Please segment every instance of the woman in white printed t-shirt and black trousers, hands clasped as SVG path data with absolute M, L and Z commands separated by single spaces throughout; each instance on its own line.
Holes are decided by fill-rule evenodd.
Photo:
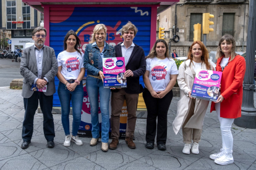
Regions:
M 158 149 L 166 150 L 167 113 L 173 99 L 172 89 L 177 79 L 177 65 L 169 57 L 168 45 L 163 39 L 156 40 L 146 57 L 146 63 L 146 72 L 143 75 L 143 99 L 148 110 L 145 147 L 153 149 L 156 136 Z

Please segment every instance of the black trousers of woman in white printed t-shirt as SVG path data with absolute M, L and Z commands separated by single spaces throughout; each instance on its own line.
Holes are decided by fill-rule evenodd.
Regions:
M 173 99 L 173 91 L 168 92 L 162 99 L 157 99 L 152 97 L 148 89 L 145 88 L 142 95 L 148 111 L 146 141 L 147 143 L 154 144 L 156 136 L 156 144 L 165 144 L 167 137 L 167 113 Z M 156 117 L 158 117 L 157 134 Z

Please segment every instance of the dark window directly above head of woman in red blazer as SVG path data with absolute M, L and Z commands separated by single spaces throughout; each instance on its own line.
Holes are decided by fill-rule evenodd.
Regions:
M 224 34 L 234 36 L 234 15 L 235 13 L 223 13 L 222 36 Z

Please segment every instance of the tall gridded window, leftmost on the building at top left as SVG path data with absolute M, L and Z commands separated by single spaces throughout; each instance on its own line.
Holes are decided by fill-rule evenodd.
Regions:
M 6 20 L 7 29 L 16 29 L 16 1 L 6 0 Z

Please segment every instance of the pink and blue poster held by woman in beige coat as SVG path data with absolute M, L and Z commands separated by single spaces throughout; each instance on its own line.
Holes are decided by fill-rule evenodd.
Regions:
M 191 97 L 216 102 L 220 92 L 220 71 L 200 70 L 195 75 Z

